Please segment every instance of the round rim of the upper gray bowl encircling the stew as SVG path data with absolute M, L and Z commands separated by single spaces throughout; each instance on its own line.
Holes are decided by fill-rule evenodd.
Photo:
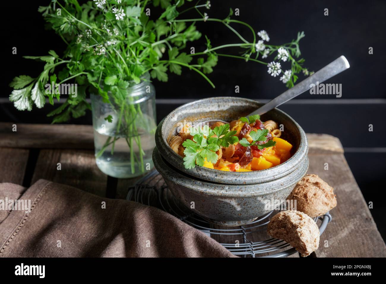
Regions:
M 182 172 L 185 172 L 189 175 L 192 175 L 193 177 L 205 179 L 210 182 L 216 182 L 216 177 L 218 175 L 221 175 L 221 180 L 223 181 L 223 184 L 257 184 L 259 182 L 267 182 L 274 179 L 279 179 L 285 175 L 288 175 L 290 172 L 295 170 L 296 165 L 304 159 L 304 157 L 308 153 L 308 142 L 305 135 L 304 130 L 301 128 L 301 126 L 288 114 L 285 112 L 275 108 L 271 111 L 276 111 L 281 113 L 282 115 L 286 116 L 289 121 L 291 121 L 296 128 L 298 129 L 300 133 L 300 141 L 299 146 L 296 152 L 284 163 L 281 163 L 280 165 L 277 165 L 272 168 L 268 168 L 265 170 L 258 170 L 258 171 L 252 171 L 252 172 L 238 172 L 237 173 L 237 179 L 235 179 L 235 173 L 234 172 L 224 172 L 219 171 L 216 169 L 206 168 L 206 167 L 199 167 L 196 166 L 192 169 L 186 169 L 183 165 L 183 159 L 181 156 L 179 156 L 176 152 L 174 152 L 168 142 L 167 142 L 167 135 L 168 133 L 165 133 L 164 131 L 164 125 L 165 121 L 168 121 L 173 117 L 176 113 L 178 113 L 179 110 L 185 109 L 186 107 L 189 107 L 191 105 L 197 104 L 199 102 L 205 102 L 207 100 L 241 100 L 246 103 L 252 103 L 252 104 L 262 104 L 258 102 L 257 100 L 242 98 L 242 97 L 210 97 L 200 100 L 195 100 L 193 102 L 188 102 L 186 104 L 180 105 L 173 111 L 171 111 L 164 119 L 158 124 L 156 129 L 156 145 L 158 150 L 160 151 L 161 155 L 165 158 L 165 156 L 168 156 L 167 160 L 172 160 L 174 167 L 178 168 Z M 177 119 L 178 121 L 178 119 Z M 219 173 L 221 172 L 221 174 Z M 210 178 L 213 176 L 213 178 Z

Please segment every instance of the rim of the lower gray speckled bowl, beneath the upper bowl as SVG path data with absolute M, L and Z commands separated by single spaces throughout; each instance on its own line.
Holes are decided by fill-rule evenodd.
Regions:
M 179 171 L 165 160 L 157 147 L 153 150 L 152 158 L 154 167 L 156 167 L 156 170 L 164 179 L 200 194 L 221 196 L 225 198 L 254 197 L 279 192 L 288 186 L 295 186 L 295 184 L 304 177 L 309 167 L 308 157 L 306 157 L 298 164 L 295 171 L 279 179 L 270 180 L 260 184 L 219 184 L 198 179 L 196 177 L 190 177 L 187 173 Z

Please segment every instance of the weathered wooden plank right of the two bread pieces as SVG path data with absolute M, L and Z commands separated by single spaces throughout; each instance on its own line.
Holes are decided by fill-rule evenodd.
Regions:
M 316 257 L 386 257 L 386 246 L 343 154 L 308 155 L 308 173 L 334 187 L 337 207 L 320 238 Z M 328 163 L 328 170 L 324 170 Z M 328 247 L 325 247 L 325 241 Z

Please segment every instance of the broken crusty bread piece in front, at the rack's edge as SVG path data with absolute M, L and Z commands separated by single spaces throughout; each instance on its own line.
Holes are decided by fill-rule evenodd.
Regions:
M 268 235 L 286 241 L 301 253 L 310 255 L 319 247 L 319 228 L 307 214 L 295 210 L 281 211 L 268 223 Z

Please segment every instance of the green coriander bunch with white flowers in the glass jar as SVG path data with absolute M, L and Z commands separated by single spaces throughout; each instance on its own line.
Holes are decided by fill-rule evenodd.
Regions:
M 160 7 L 162 12 L 155 15 L 152 6 Z M 44 61 L 45 65 L 36 78 L 15 77 L 10 83 L 14 88 L 10 100 L 17 109 L 28 111 L 33 104 L 43 107 L 46 99 L 51 105 L 54 99 L 65 100 L 47 114 L 53 117 L 52 123 L 57 123 L 85 115 L 90 109 L 86 94 L 100 95 L 103 102 L 114 106 L 117 114 L 107 115 L 106 123 L 119 119 L 115 123 L 118 129 L 125 129 L 125 135 L 108 137 L 96 156 L 103 155 L 107 147 L 113 154 L 116 141 L 124 139 L 130 149 L 131 172 L 134 174 L 136 168 L 133 165 L 137 164 L 142 173 L 146 154 L 141 148 L 139 128 L 146 124 L 146 118 L 140 105 L 128 96 L 128 88 L 147 80 L 146 74 L 150 73 L 151 79 L 167 82 L 168 72 L 181 75 L 186 69 L 199 73 L 214 88 L 207 74 L 213 71 L 219 57 L 266 65 L 267 72 L 273 77 L 280 76 L 280 81 L 289 88 L 298 80 L 301 71 L 305 75 L 310 73 L 303 68 L 304 59 L 300 58 L 299 41 L 304 37 L 303 32 L 298 32 L 290 43 L 273 45 L 269 43 L 266 31 L 256 33 L 249 24 L 235 19 L 232 9 L 224 19 L 215 19 L 208 15 L 210 8 L 210 1 L 199 1 L 194 5 L 192 0 L 93 0 L 83 4 L 77 0 L 52 0 L 38 10 L 47 26 L 63 40 L 66 50 L 60 56 L 53 50 L 44 56 L 24 56 Z M 185 13 L 193 9 L 197 17 L 185 19 Z M 196 22 L 201 21 L 207 25 L 224 25 L 238 41 L 213 46 L 205 36 L 207 48 L 190 52 L 192 42 L 202 36 L 196 29 Z M 247 27 L 251 31 L 250 39 L 242 37 L 236 26 Z M 240 53 L 219 53 L 228 47 L 237 47 Z M 76 95 L 64 94 L 60 88 L 69 82 L 77 85 Z M 208 151 L 217 148 L 208 145 L 218 145 L 217 142 L 207 146 L 203 146 L 203 141 L 195 143 Z

